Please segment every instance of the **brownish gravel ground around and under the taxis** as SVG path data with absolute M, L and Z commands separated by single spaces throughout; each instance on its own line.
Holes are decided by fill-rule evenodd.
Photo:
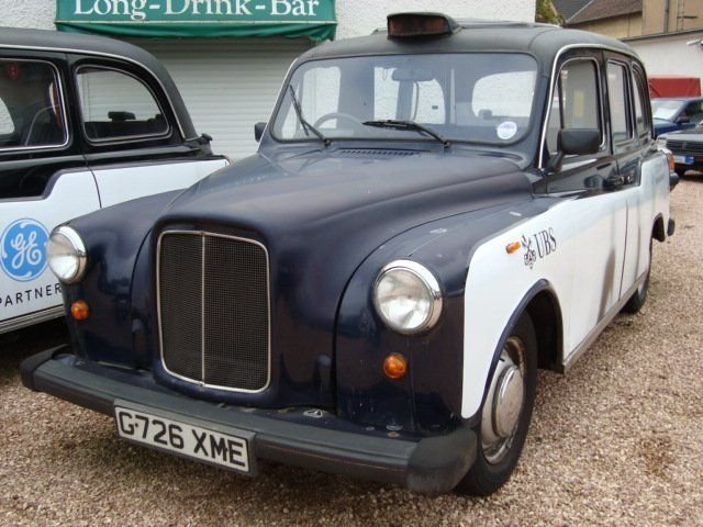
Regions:
M 131 446 L 110 418 L 20 383 L 60 324 L 0 336 L 0 525 L 703 526 L 703 179 L 673 191 L 649 300 L 567 375 L 543 373 L 527 445 L 489 498 L 260 463 L 230 472 Z

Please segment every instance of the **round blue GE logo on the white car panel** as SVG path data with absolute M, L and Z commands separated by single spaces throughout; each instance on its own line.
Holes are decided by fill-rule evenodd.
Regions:
M 12 222 L 0 239 L 2 270 L 20 282 L 38 277 L 46 267 L 46 242 L 48 233 L 36 220 Z

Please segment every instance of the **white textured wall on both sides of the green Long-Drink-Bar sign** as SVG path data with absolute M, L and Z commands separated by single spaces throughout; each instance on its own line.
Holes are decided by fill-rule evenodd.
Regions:
M 457 18 L 535 20 L 535 0 L 336 0 L 337 38 L 367 35 L 397 11 L 439 11 Z M 54 0 L 0 0 L 0 25 L 54 29 Z

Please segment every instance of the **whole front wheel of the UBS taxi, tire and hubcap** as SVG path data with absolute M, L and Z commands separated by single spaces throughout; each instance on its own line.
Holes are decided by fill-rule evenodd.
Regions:
M 511 476 L 527 437 L 537 386 L 537 339 L 526 313 L 503 345 L 477 427 L 473 466 L 456 491 L 487 496 Z

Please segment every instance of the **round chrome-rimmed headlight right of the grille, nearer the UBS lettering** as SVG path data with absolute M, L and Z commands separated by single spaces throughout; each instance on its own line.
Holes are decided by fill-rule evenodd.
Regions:
M 391 329 L 420 333 L 439 319 L 442 290 L 426 267 L 411 260 L 395 260 L 383 267 L 376 279 L 373 304 Z

